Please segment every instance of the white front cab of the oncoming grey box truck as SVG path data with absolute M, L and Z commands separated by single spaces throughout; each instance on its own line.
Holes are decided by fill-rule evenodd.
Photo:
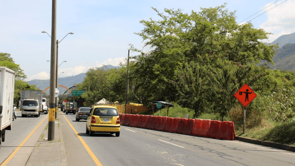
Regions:
M 24 99 L 21 104 L 22 117 L 40 116 L 39 113 L 39 101 L 36 99 Z

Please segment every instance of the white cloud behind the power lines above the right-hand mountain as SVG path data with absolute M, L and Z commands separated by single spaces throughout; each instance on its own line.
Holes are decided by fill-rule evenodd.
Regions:
M 268 19 L 260 26 L 266 32 L 273 33 L 269 35 L 269 41 L 266 42 L 272 42 L 282 35 L 295 32 L 295 1 L 289 0 L 280 4 L 281 2 L 276 2 L 271 6 L 269 6 L 271 3 L 265 5 L 265 7 L 269 6 L 265 11 L 274 7 L 266 13 Z

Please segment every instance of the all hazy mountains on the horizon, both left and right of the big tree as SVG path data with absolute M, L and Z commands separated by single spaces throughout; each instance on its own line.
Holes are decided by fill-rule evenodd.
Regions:
M 268 64 L 271 69 L 280 69 L 280 70 L 288 70 L 295 71 L 295 33 L 291 33 L 288 35 L 282 35 L 277 38 L 275 41 L 271 43 L 266 43 L 271 45 L 278 45 L 279 48 L 276 50 L 276 55 L 273 58 L 273 62 L 275 65 Z M 104 66 L 108 68 L 120 68 L 112 65 Z M 58 78 L 58 84 L 63 85 L 67 88 L 71 88 L 72 86 L 82 83 L 86 73 L 81 73 L 76 76 L 67 76 Z M 36 85 L 40 90 L 45 90 L 49 87 L 50 80 L 32 80 L 28 81 L 30 85 Z M 59 88 L 60 93 L 65 92 L 65 89 Z M 48 91 L 49 93 L 49 91 Z

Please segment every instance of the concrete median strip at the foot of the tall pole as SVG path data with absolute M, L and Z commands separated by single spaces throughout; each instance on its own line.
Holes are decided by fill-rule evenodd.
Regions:
M 65 146 L 59 124 L 59 112 L 54 125 L 54 140 L 48 141 L 48 129 L 44 129 L 26 166 L 66 166 Z

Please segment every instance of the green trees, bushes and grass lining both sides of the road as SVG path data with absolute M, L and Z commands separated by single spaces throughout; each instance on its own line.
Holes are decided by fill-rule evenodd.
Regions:
M 237 136 L 295 145 L 295 73 L 271 70 L 268 64 L 273 64 L 277 46 L 262 42 L 270 33 L 250 22 L 238 25 L 235 12 L 225 5 L 191 14 L 153 8 L 158 18 L 140 21 L 144 28 L 136 34 L 150 51 L 130 45 L 138 55 L 130 57 L 128 103 L 141 103 L 148 107 L 141 114 L 152 115 L 151 102 L 171 102 L 170 117 L 233 121 Z M 77 85 L 77 90 L 87 92 L 74 100 L 84 106 L 102 98 L 124 104 L 126 71 L 127 63 L 114 69 L 89 69 Z M 257 97 L 246 108 L 246 134 L 242 134 L 243 107 L 234 93 L 245 83 Z M 35 87 L 20 79 L 16 88 L 17 94 Z M 157 109 L 154 115 L 159 115 Z M 166 108 L 160 115 L 167 116 Z

